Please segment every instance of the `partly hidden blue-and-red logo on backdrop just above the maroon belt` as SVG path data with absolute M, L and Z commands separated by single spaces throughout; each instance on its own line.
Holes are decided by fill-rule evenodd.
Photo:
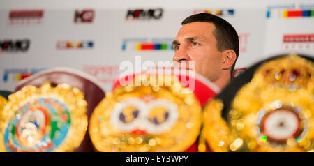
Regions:
M 3 82 L 19 82 L 45 68 L 7 68 L 3 73 Z

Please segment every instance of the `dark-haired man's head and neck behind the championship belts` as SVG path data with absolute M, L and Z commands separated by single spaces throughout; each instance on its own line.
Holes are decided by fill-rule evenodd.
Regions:
M 174 64 L 194 61 L 195 72 L 220 89 L 229 84 L 239 56 L 239 36 L 227 21 L 208 13 L 191 15 L 172 45 Z

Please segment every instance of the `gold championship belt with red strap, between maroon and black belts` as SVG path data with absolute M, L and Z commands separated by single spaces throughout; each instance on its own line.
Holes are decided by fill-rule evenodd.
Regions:
M 133 78 L 128 80 L 133 85 L 115 82 L 112 93 L 107 94 L 91 116 L 89 135 L 95 149 L 197 151 L 195 142 L 202 125 L 202 101 L 208 99 L 202 97 L 214 96 L 218 91 L 216 86 L 171 72 L 150 71 L 127 76 Z M 182 85 L 183 77 L 195 79 L 197 93 L 190 86 Z M 203 91 L 208 93 L 198 94 L 202 91 L 200 87 L 205 87 Z

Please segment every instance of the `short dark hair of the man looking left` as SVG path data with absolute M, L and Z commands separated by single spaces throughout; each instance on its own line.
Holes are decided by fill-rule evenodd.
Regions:
M 231 68 L 231 76 L 234 70 L 235 62 L 239 56 L 239 36 L 237 31 L 232 27 L 232 25 L 216 15 L 211 15 L 209 13 L 199 13 L 195 15 L 190 15 L 181 23 L 182 25 L 192 23 L 192 22 L 209 22 L 213 23 L 216 29 L 213 34 L 217 40 L 216 47 L 217 50 L 223 52 L 224 50 L 231 49 L 236 53 L 236 60 L 234 61 Z

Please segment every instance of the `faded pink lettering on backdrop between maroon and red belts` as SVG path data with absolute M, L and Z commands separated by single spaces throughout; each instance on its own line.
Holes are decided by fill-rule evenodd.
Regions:
M 104 84 L 112 84 L 119 75 L 119 65 L 84 65 L 83 71 Z

